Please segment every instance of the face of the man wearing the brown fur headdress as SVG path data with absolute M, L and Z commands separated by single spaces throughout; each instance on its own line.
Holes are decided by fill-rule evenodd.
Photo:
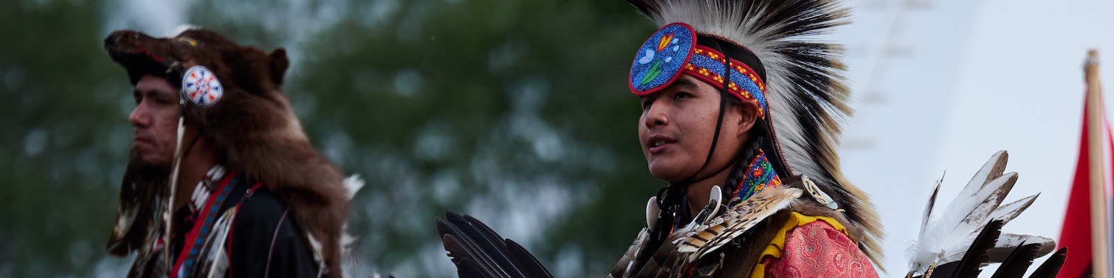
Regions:
M 133 92 L 136 109 L 128 122 L 136 128 L 133 137 L 134 159 L 146 165 L 170 165 L 177 141 L 180 107 L 178 90 L 165 79 L 144 76 Z

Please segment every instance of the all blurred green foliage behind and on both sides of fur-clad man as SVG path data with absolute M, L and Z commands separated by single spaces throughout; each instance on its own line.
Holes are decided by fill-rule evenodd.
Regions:
M 104 251 L 134 106 L 100 41 L 155 30 L 125 0 L 0 9 L 0 277 L 117 277 Z M 561 277 L 610 270 L 653 179 L 627 92 L 653 31 L 623 1 L 196 0 L 183 21 L 285 47 L 306 133 L 368 186 L 350 230 L 355 277 L 455 276 L 433 217 L 470 214 Z M 18 28 L 12 28 L 18 27 Z

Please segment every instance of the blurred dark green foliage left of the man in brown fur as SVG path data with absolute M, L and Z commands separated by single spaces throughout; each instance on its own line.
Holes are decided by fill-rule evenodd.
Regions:
M 0 276 L 91 274 L 127 158 L 128 83 L 100 49 L 101 1 L 0 9 Z

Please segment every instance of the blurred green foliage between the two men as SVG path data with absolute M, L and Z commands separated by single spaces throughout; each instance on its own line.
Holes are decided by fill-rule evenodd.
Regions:
M 203 1 L 192 19 L 289 40 L 286 91 L 306 131 L 368 177 L 351 228 L 369 272 L 451 274 L 431 225 L 446 209 L 566 277 L 608 271 L 641 226 L 661 182 L 646 175 L 625 77 L 653 28 L 626 3 L 240 4 Z

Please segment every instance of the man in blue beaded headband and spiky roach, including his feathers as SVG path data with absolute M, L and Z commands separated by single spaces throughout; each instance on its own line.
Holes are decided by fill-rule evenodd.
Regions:
M 848 9 L 836 0 L 629 2 L 659 28 L 627 83 L 642 103 L 649 172 L 668 186 L 649 198 L 645 228 L 608 277 L 878 277 L 881 225 L 836 152 L 851 113 L 841 47 L 815 38 L 847 23 Z M 995 155 L 944 217 L 929 222 L 926 212 L 907 276 L 974 277 L 1003 262 L 1003 277 L 1020 277 L 1052 250 L 1046 238 L 999 239 L 1035 199 L 998 206 L 1016 181 L 1005 162 Z M 449 212 L 438 229 L 461 277 L 549 276 L 473 218 Z M 1054 276 L 1057 259 L 1034 277 Z

